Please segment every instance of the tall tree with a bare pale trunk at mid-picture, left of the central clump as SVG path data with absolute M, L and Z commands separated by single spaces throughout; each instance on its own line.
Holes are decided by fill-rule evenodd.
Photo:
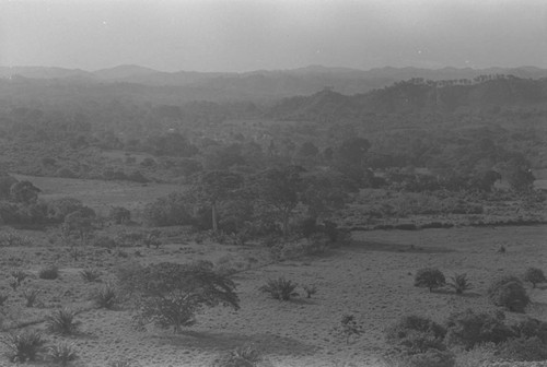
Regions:
M 233 198 L 243 187 L 243 176 L 225 170 L 208 170 L 198 176 L 193 191 L 198 200 L 207 201 L 211 206 L 212 230 L 218 233 L 218 204 Z

